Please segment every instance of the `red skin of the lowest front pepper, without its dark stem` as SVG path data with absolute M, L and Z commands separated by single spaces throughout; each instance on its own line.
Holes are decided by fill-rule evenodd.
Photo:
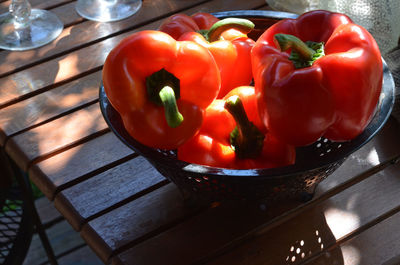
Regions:
M 231 169 L 273 168 L 295 162 L 295 148 L 279 141 L 265 128 L 258 128 L 263 136 L 260 153 L 255 157 L 239 157 L 231 145 L 230 135 L 237 126 L 235 118 L 227 110 L 226 103 L 232 96 L 241 99 L 250 120 L 258 126 L 253 87 L 239 87 L 225 98 L 215 100 L 205 111 L 199 133 L 178 148 L 178 159 L 201 165 Z

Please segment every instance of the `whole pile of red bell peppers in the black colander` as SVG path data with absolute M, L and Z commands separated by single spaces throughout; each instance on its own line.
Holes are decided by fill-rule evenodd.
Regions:
M 367 30 L 324 10 L 281 20 L 257 40 L 253 28 L 176 14 L 123 39 L 103 84 L 129 134 L 186 162 L 251 169 L 292 165 L 298 146 L 365 129 L 383 78 Z

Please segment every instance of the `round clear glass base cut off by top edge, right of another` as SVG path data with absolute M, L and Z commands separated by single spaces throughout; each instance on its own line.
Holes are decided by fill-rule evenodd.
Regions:
M 111 22 L 135 14 L 142 6 L 142 0 L 78 0 L 76 11 L 86 19 Z

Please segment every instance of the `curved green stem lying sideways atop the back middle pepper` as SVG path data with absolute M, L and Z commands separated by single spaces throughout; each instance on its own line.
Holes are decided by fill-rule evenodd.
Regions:
M 219 40 L 222 32 L 232 28 L 247 34 L 254 29 L 254 23 L 244 18 L 225 18 L 214 23 L 208 31 L 202 31 L 202 34 L 209 42 L 213 42 Z

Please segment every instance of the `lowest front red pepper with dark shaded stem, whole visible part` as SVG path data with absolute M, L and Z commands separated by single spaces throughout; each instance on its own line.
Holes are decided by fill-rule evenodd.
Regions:
M 240 87 L 205 111 L 199 133 L 178 148 L 178 159 L 201 165 L 250 169 L 293 164 L 295 149 L 257 128 L 253 87 Z M 250 119 L 255 118 L 252 123 Z

